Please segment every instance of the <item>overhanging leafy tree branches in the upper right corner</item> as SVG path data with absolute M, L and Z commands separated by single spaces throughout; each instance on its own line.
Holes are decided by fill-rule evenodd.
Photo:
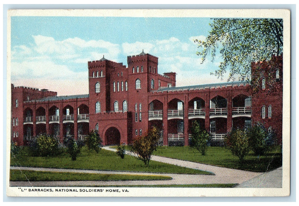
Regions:
M 204 62 L 208 55 L 212 61 L 220 53 L 222 62 L 214 74 L 223 78 L 229 70 L 230 80 L 251 79 L 251 62 L 268 61 L 283 53 L 282 19 L 213 19 L 205 40 L 194 42 L 201 49 L 197 55 Z

